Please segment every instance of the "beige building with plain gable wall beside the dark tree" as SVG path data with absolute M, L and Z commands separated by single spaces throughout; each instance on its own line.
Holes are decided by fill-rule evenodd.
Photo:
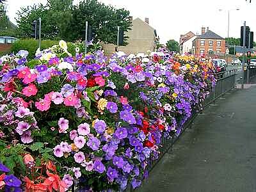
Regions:
M 140 18 L 132 20 L 132 27 L 125 35 L 129 36 L 128 45 L 120 46 L 118 51 L 123 51 L 126 54 L 145 53 L 147 51 L 155 51 L 156 43 L 159 40 L 156 29 L 149 25 L 148 18 L 145 21 Z M 115 45 L 102 45 L 106 54 L 115 52 Z

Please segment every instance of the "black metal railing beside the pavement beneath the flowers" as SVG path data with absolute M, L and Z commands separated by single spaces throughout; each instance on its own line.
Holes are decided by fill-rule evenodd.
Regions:
M 218 78 L 218 81 L 216 82 L 216 86 L 212 88 L 209 97 L 205 99 L 204 102 L 204 108 L 214 102 L 216 99 L 220 98 L 225 93 L 229 92 L 236 86 L 236 72 L 237 70 L 228 70 L 226 72 L 222 72 L 221 74 L 216 74 L 216 77 Z M 184 127 L 182 131 L 180 132 L 179 136 L 175 137 L 166 137 L 162 135 L 161 143 L 159 145 L 159 158 L 154 160 L 152 157 L 148 160 L 147 170 L 148 172 L 152 171 L 154 166 L 162 159 L 164 154 L 172 153 L 173 152 L 173 145 L 175 141 L 179 140 L 182 133 L 189 127 L 191 127 L 193 120 L 195 120 L 196 116 L 200 112 L 193 111 L 191 118 L 184 124 Z M 143 180 L 143 178 L 141 178 Z M 72 188 L 72 192 L 76 191 L 75 187 Z M 131 185 L 128 186 L 128 188 L 125 190 L 125 192 L 132 192 L 134 189 L 132 189 Z

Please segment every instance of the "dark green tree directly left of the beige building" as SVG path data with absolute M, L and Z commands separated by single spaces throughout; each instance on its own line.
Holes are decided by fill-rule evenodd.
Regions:
M 85 22 L 92 26 L 96 39 L 107 43 L 116 43 L 117 26 L 124 31 L 131 29 L 129 11 L 106 6 L 97 0 L 81 1 L 74 6 L 69 26 L 68 40 L 84 40 Z M 125 36 L 124 41 L 127 40 Z

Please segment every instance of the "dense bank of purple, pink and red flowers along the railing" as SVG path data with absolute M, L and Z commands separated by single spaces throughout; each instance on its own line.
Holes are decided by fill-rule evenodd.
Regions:
M 137 188 L 161 136 L 179 136 L 216 83 L 211 61 L 164 49 L 71 56 L 61 41 L 27 55 L 0 60 L 0 189 Z

